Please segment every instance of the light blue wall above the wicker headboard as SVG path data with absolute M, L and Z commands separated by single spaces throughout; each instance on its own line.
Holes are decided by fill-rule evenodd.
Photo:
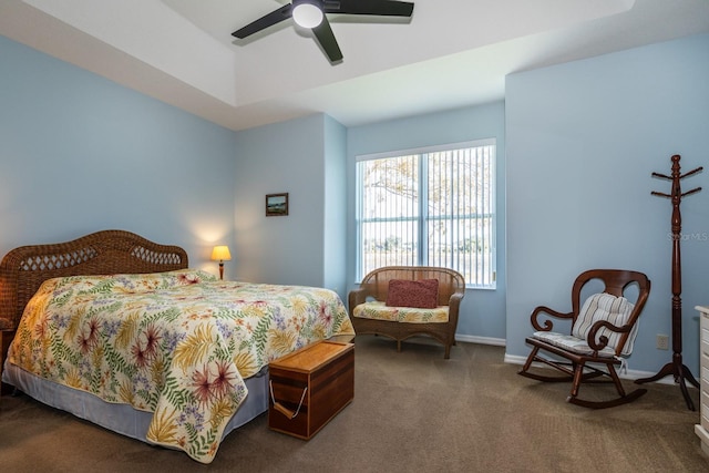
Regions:
M 0 37 L 0 253 L 100 229 L 233 245 L 234 132 Z

